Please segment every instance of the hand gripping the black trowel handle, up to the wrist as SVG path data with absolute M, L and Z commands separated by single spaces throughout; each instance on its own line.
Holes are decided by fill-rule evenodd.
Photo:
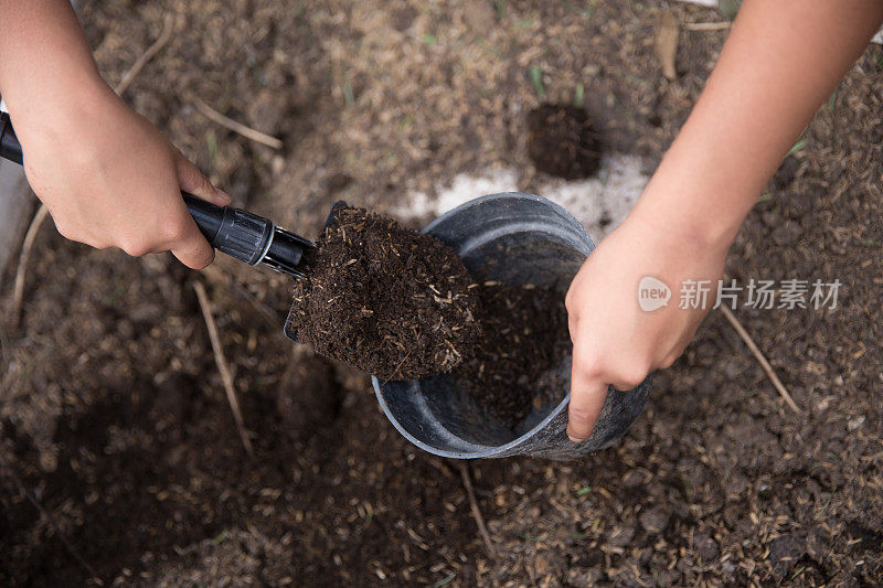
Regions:
M 134 256 L 170 250 L 194 269 L 211 264 L 181 192 L 219 205 L 230 196 L 103 83 L 57 101 L 13 120 L 28 181 L 58 233 Z

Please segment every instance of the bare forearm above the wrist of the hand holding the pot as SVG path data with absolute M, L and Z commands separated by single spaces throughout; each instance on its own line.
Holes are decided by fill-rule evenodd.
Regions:
M 727 247 L 881 21 L 880 0 L 747 0 L 637 215 Z

